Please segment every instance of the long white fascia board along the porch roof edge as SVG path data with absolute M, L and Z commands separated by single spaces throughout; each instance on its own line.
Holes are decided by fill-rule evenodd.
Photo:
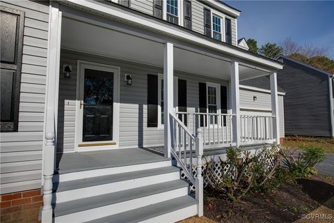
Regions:
M 98 15 L 113 17 L 116 20 L 127 22 L 128 24 L 135 26 L 140 26 L 144 29 L 148 29 L 154 32 L 163 33 L 167 36 L 173 36 L 173 38 L 191 42 L 209 49 L 218 49 L 218 51 L 223 52 L 224 54 L 230 54 L 231 56 L 236 56 L 239 59 L 244 59 L 252 63 L 260 63 L 262 66 L 269 67 L 273 70 L 283 69 L 283 64 L 276 61 L 260 58 L 255 55 L 253 56 L 247 52 L 234 49 L 233 47 L 228 47 L 209 40 L 205 40 L 204 38 L 200 38 L 199 36 L 189 33 L 189 31 L 179 29 L 177 26 L 171 26 L 169 24 L 164 24 L 163 22 L 154 21 L 150 19 L 150 17 L 143 17 L 134 13 L 129 13 L 120 8 L 107 7 L 107 5 L 104 5 L 104 3 L 100 3 L 99 1 L 67 0 L 60 2 L 67 3 L 70 6 L 74 6 L 76 8 L 89 10 L 91 13 L 97 13 Z

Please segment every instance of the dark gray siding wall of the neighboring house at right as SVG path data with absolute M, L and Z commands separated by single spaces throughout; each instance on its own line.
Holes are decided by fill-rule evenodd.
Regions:
M 331 137 L 328 75 L 284 59 L 278 85 L 284 98 L 285 134 Z

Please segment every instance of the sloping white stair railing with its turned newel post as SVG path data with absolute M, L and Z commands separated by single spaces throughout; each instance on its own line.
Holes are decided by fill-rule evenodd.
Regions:
M 202 130 L 193 134 L 182 121 L 170 114 L 170 135 L 172 139 L 170 153 L 177 164 L 182 168 L 186 177 L 195 185 L 196 201 L 198 202 L 198 216 L 203 215 L 203 178 L 202 178 L 202 155 L 203 142 Z M 194 154 L 193 154 L 194 153 Z M 193 155 L 196 156 L 197 175 L 193 176 Z M 189 161 L 189 163 L 187 162 Z

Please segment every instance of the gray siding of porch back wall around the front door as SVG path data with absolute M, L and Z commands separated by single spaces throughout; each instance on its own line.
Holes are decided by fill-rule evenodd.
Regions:
M 59 81 L 58 153 L 74 151 L 77 60 L 120 67 L 120 147 L 161 146 L 164 144 L 163 128 L 147 128 L 147 75 L 162 73 L 162 68 L 62 50 L 61 66 L 63 63 L 72 66 L 72 77 L 70 79 L 60 77 Z M 125 84 L 125 73 L 132 75 L 132 86 Z M 224 80 L 200 75 L 196 75 L 195 78 L 189 73 L 175 72 L 175 76 L 187 81 L 188 112 L 198 112 L 198 82 L 216 82 L 228 86 L 228 82 Z

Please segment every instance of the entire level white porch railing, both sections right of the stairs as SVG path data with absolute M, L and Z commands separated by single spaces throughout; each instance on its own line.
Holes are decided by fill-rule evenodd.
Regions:
M 192 134 L 196 134 L 198 129 L 202 130 L 204 148 L 236 145 L 232 125 L 233 118 L 236 118 L 234 114 L 175 112 L 175 115 Z M 241 115 L 241 145 L 273 143 L 276 140 L 273 134 L 274 118 L 276 116 Z

